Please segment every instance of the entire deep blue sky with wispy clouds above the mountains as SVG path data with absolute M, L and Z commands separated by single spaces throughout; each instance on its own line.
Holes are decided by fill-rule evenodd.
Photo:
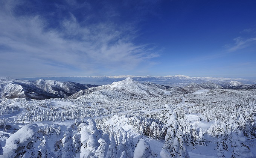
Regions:
M 0 76 L 256 77 L 254 0 L 0 2 Z

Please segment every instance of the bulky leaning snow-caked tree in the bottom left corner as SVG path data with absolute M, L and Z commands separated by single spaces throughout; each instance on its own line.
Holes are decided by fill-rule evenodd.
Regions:
M 38 140 L 38 126 L 28 124 L 23 126 L 7 140 L 3 147 L 3 158 L 37 158 L 34 143 Z

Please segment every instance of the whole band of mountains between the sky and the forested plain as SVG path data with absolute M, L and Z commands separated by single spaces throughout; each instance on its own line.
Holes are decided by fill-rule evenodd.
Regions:
M 29 78 L 27 78 L 29 79 Z M 34 78 L 36 79 L 36 78 Z M 49 78 L 48 78 L 49 79 Z M 256 89 L 255 81 L 242 78 L 188 77 L 184 75 L 152 76 L 102 76 L 102 77 L 56 77 L 57 80 L 18 80 L 0 78 L 0 98 L 78 98 L 100 90 L 128 91 L 135 95 L 164 95 L 168 93 L 189 93 L 200 89 Z M 104 84 L 102 83 L 110 83 Z M 152 90 L 154 89 L 154 90 Z M 139 90 L 136 92 L 136 90 Z M 140 93 L 140 94 L 139 94 Z

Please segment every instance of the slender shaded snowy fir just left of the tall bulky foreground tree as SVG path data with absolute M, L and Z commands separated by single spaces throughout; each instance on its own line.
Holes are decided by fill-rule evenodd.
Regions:
M 67 131 L 64 134 L 62 139 L 62 158 L 73 158 L 76 156 L 76 149 L 72 141 L 72 129 L 67 128 Z

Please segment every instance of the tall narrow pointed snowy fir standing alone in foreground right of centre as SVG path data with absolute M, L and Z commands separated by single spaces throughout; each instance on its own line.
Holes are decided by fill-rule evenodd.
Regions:
M 166 114 L 168 117 L 166 127 L 168 129 L 165 136 L 165 144 L 160 152 L 160 156 L 162 158 L 189 158 L 182 132 L 178 128 L 175 113 L 169 105 L 165 105 L 165 107 L 168 110 Z

